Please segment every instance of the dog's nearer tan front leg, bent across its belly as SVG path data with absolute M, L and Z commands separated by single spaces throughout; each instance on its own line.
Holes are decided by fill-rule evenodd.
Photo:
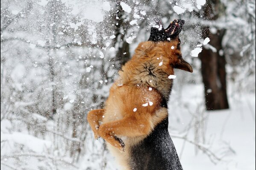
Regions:
M 147 120 L 147 121 L 146 121 Z M 147 135 L 152 128 L 149 119 L 133 116 L 100 125 L 100 136 L 118 150 L 124 151 L 125 144 L 117 136 L 135 137 Z

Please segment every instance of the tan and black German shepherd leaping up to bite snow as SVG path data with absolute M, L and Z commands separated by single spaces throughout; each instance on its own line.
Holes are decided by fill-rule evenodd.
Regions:
M 168 133 L 167 102 L 174 68 L 193 72 L 180 52 L 184 23 L 174 20 L 164 29 L 157 21 L 118 72 L 105 108 L 88 113 L 94 137 L 105 139 L 125 170 L 182 170 Z

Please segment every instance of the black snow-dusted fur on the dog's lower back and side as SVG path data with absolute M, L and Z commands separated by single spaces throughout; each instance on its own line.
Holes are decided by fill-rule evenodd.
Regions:
M 168 118 L 163 120 L 141 143 L 132 147 L 132 170 L 182 170 L 168 132 Z

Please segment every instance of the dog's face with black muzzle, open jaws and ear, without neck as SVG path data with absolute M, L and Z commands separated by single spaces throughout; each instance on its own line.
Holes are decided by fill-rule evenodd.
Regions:
M 165 29 L 160 20 L 156 20 L 156 25 L 151 27 L 150 38 L 156 47 L 162 48 L 170 59 L 172 68 L 178 68 L 188 72 L 193 72 L 191 65 L 186 62 L 181 55 L 179 33 L 184 26 L 184 20 L 174 20 Z

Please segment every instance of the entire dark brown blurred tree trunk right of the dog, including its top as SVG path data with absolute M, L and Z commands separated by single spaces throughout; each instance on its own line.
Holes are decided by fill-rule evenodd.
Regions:
M 225 14 L 225 6 L 220 0 L 209 0 L 203 6 L 203 17 L 206 20 L 217 20 Z M 201 73 L 203 77 L 206 110 L 220 110 L 229 108 L 226 85 L 226 59 L 220 55 L 222 39 L 225 30 L 218 30 L 216 34 L 210 32 L 209 27 L 203 27 L 203 38 L 209 37 L 209 42 L 215 49 L 203 48 L 199 54 L 202 63 Z

